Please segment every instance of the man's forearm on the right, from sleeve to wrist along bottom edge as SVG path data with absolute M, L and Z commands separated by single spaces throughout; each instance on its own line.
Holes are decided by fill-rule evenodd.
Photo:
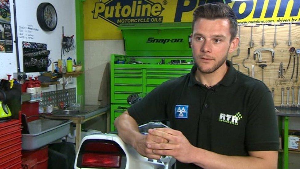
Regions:
M 220 155 L 197 147 L 192 151 L 194 156 L 192 163 L 203 168 L 277 168 L 277 151 L 258 151 L 262 157 Z

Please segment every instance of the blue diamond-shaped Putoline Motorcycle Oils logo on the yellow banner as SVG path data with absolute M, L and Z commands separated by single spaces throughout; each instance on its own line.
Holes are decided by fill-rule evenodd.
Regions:
M 160 3 L 149 0 L 140 1 L 116 1 L 109 0 L 105 3 L 95 3 L 93 18 L 103 18 L 115 26 L 120 23 L 151 23 L 162 22 L 159 16 L 164 10 Z

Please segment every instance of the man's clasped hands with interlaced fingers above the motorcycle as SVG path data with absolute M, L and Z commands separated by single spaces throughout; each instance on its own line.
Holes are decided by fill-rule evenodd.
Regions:
M 170 128 L 149 129 L 148 135 L 138 140 L 136 150 L 151 159 L 160 159 L 162 155 L 173 156 L 182 163 L 191 163 L 194 146 L 177 130 Z

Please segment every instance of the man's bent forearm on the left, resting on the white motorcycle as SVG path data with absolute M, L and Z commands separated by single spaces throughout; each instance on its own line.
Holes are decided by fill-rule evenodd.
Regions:
M 125 111 L 122 115 L 116 118 L 114 125 L 118 130 L 118 135 L 120 138 L 127 144 L 135 147 L 135 140 L 137 138 L 142 138 L 143 135 L 140 134 L 138 130 L 138 124 L 136 121 L 128 115 L 128 112 Z

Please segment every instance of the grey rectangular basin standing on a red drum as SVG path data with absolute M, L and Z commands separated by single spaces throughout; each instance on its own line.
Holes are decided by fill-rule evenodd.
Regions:
M 51 119 L 29 122 L 29 134 L 22 134 L 22 149 L 35 150 L 68 135 L 72 122 L 72 120 Z

